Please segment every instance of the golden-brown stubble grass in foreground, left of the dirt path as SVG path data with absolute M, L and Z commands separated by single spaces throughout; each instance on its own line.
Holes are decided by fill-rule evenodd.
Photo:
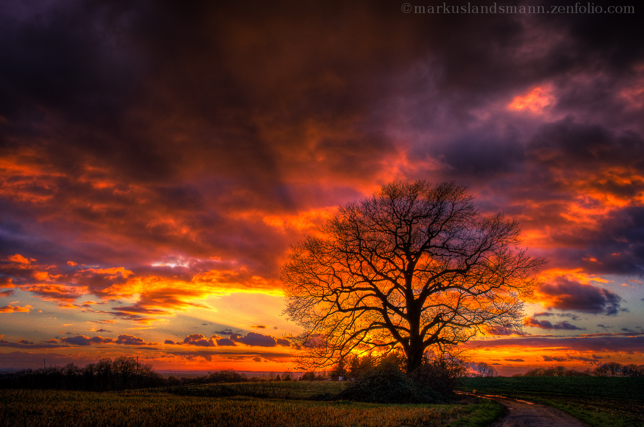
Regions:
M 201 397 L 150 390 L 0 390 L 0 426 L 374 426 L 484 427 L 500 404 L 368 404 L 249 396 Z

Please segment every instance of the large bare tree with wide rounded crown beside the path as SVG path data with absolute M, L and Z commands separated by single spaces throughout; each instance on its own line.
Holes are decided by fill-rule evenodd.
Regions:
M 428 347 L 520 329 L 544 260 L 518 247 L 516 221 L 480 217 L 472 199 L 454 183 L 390 183 L 294 244 L 282 280 L 284 313 L 305 329 L 291 337 L 301 365 L 401 347 L 413 372 Z

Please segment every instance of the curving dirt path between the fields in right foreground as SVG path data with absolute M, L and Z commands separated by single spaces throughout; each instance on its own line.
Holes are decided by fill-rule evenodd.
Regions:
M 480 396 L 502 403 L 507 415 L 489 427 L 588 427 L 562 410 L 540 403 L 527 403 L 500 396 Z

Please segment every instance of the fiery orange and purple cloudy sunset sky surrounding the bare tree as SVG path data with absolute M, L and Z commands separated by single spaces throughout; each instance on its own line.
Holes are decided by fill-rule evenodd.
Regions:
M 5 1 L 0 368 L 292 369 L 289 243 L 416 179 L 549 260 L 475 360 L 644 363 L 641 12 L 402 5 Z

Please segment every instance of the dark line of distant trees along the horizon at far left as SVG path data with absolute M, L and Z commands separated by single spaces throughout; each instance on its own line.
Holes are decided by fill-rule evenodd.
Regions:
M 0 387 L 106 391 L 159 386 L 165 381 L 149 363 L 137 363 L 132 356 L 119 356 L 113 360 L 103 358 L 83 368 L 70 363 L 3 374 Z

